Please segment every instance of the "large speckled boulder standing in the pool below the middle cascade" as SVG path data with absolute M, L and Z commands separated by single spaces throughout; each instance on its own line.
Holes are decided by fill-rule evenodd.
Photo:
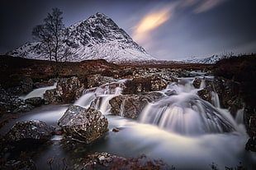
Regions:
M 107 118 L 94 108 L 70 106 L 59 119 L 59 126 L 67 136 L 91 143 L 108 131 Z

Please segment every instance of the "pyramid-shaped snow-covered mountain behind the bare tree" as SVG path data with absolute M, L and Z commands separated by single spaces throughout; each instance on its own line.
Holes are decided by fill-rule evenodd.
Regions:
M 136 62 L 155 60 L 136 44 L 111 18 L 96 13 L 87 20 L 69 26 L 63 32 L 65 47 L 71 55 L 69 62 L 88 59 L 105 59 L 107 62 Z M 47 60 L 39 42 L 26 43 L 7 53 L 17 57 Z

